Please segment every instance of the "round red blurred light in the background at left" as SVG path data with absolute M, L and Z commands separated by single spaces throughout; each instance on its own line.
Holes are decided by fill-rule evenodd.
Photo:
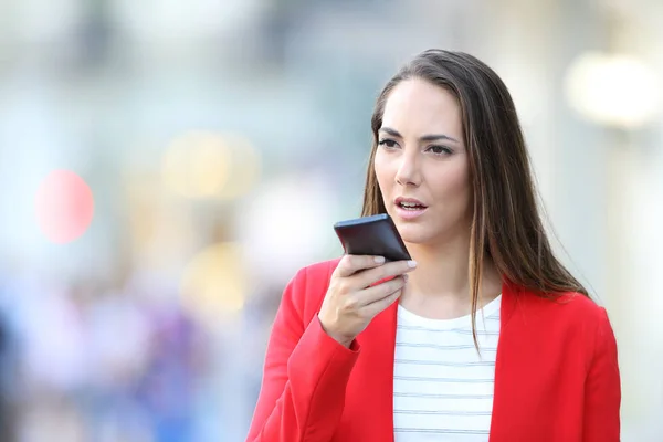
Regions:
M 94 212 L 94 199 L 87 183 L 70 170 L 54 170 L 36 192 L 36 221 L 55 243 L 69 243 L 85 233 Z

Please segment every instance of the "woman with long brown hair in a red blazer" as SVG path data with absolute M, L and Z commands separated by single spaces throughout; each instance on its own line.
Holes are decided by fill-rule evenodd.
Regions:
M 619 441 L 606 311 L 555 257 L 506 86 L 430 50 L 380 94 L 364 215 L 413 262 L 301 270 L 248 441 Z

